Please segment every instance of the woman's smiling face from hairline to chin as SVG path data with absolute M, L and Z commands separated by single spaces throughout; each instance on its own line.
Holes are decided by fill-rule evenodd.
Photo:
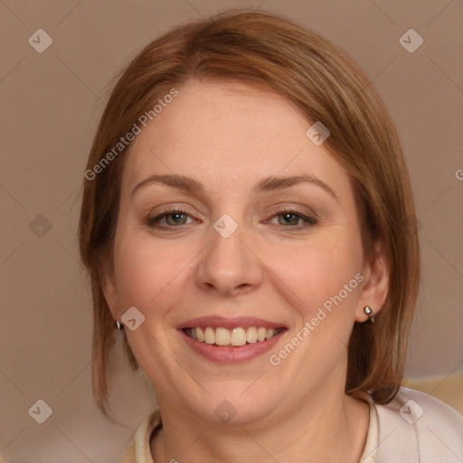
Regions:
M 131 146 L 104 283 L 158 401 L 250 422 L 344 393 L 354 320 L 384 297 L 344 168 L 274 93 L 178 90 Z

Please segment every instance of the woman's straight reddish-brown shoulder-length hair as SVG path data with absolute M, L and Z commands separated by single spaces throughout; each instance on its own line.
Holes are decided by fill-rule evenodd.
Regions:
M 415 208 L 392 119 L 364 72 L 317 33 L 264 12 L 229 11 L 177 26 L 149 43 L 117 76 L 93 140 L 87 172 L 138 118 L 186 80 L 234 80 L 266 86 L 294 103 L 307 122 L 329 128 L 326 146 L 350 175 L 364 254 L 383 244 L 390 288 L 373 325 L 355 323 L 348 345 L 346 392 L 397 393 L 420 280 Z M 308 126 L 307 126 L 308 128 Z M 101 262 L 112 259 L 120 184 L 128 147 L 83 182 L 80 256 L 90 273 L 94 308 L 93 393 L 107 413 L 109 352 L 115 321 L 103 297 Z M 114 152 L 114 151 L 113 151 Z M 137 360 L 124 336 L 129 364 Z

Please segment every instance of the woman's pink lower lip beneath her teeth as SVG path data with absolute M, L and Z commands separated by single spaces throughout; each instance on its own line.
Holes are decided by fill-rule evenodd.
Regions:
M 261 354 L 268 352 L 276 343 L 279 342 L 279 337 L 286 330 L 282 330 L 278 335 L 270 337 L 265 341 L 257 341 L 252 344 L 245 345 L 212 345 L 206 344 L 203 341 L 196 341 L 193 337 L 186 335 L 184 330 L 180 329 L 180 335 L 194 352 L 203 355 L 203 357 L 219 364 L 242 364 L 248 362 Z

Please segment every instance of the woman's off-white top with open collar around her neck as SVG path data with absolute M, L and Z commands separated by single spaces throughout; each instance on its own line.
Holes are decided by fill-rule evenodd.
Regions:
M 446 403 L 405 387 L 386 405 L 374 403 L 366 392 L 355 396 L 370 404 L 359 463 L 463 463 L 463 416 Z M 149 441 L 161 426 L 157 409 L 141 423 L 118 463 L 155 463 Z

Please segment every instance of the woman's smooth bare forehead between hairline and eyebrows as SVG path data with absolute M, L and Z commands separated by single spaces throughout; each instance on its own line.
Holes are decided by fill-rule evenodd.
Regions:
M 302 173 L 341 187 L 346 181 L 335 158 L 306 136 L 311 123 L 277 93 L 210 81 L 189 82 L 178 92 L 130 146 L 125 188 L 155 173 L 241 186 Z

